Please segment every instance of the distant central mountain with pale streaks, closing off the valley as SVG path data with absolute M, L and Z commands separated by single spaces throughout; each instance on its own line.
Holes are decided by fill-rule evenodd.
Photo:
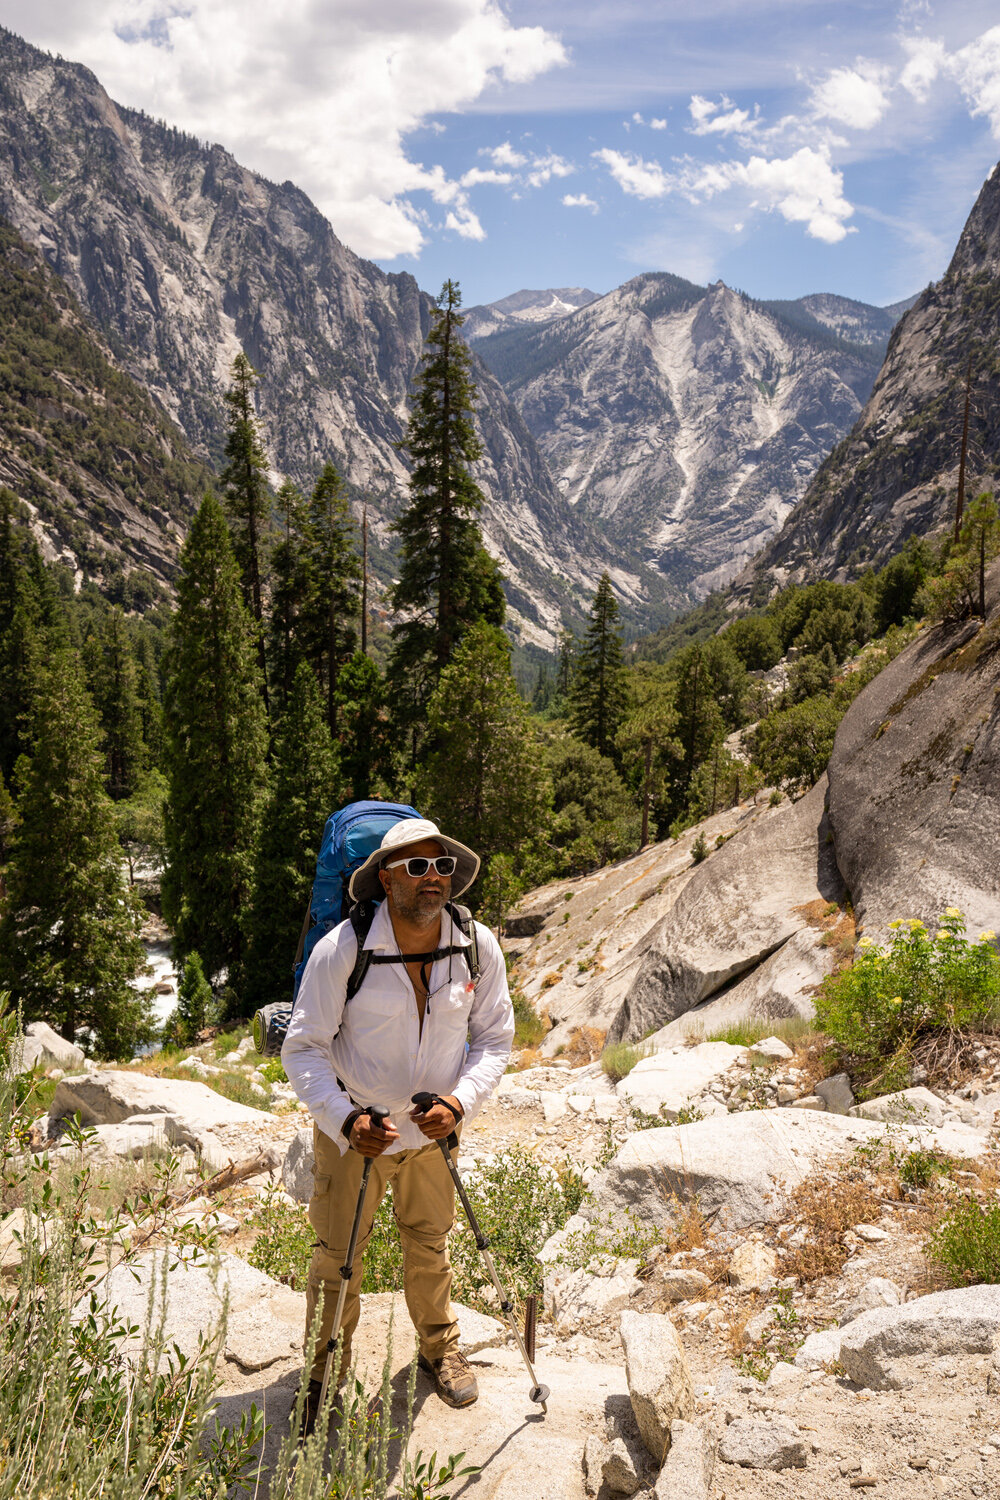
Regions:
M 567 500 L 697 598 L 774 536 L 871 390 L 888 315 L 805 302 L 645 274 L 477 348 Z

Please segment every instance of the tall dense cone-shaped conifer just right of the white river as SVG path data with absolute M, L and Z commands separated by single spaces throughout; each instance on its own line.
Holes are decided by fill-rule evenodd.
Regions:
M 256 632 L 222 507 L 208 492 L 180 554 L 165 656 L 163 760 L 168 862 L 163 915 L 183 960 L 196 950 L 214 982 L 238 987 L 253 850 L 267 788 L 267 726 Z

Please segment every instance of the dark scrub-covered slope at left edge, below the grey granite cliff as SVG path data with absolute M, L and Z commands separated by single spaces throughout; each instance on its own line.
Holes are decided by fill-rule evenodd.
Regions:
M 66 285 L 0 225 L 0 483 L 46 558 L 132 600 L 168 580 L 211 471 L 82 318 Z

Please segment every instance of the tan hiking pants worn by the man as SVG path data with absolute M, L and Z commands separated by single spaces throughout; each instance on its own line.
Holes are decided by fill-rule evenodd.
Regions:
M 309 1221 L 319 1244 L 309 1268 L 306 1340 L 322 1296 L 322 1322 L 310 1371 L 312 1380 L 322 1380 L 327 1341 L 340 1293 L 340 1266 L 348 1252 L 364 1158 L 357 1150 L 340 1154 L 336 1143 L 318 1126 L 313 1126 L 313 1149 L 315 1188 L 309 1203 Z M 403 1248 L 403 1293 L 420 1335 L 420 1353 L 427 1359 L 441 1359 L 459 1347 L 448 1262 L 448 1230 L 454 1224 L 454 1185 L 441 1148 L 436 1142 L 427 1142 L 420 1150 L 399 1150 L 375 1156 L 372 1161 L 354 1256 L 354 1275 L 343 1304 L 342 1371 L 351 1364 L 351 1340 L 361 1314 L 361 1256 L 372 1233 L 375 1210 L 385 1197 L 387 1186 L 393 1190 L 393 1214 Z

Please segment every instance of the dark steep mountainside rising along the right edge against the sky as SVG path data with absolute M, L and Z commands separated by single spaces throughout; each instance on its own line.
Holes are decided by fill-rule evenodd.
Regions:
M 945 276 L 897 326 L 859 420 L 819 470 L 754 573 L 847 578 L 954 514 L 966 378 L 967 495 L 1000 465 L 1000 171 L 987 178 Z M 972 362 L 972 363 L 970 363 Z M 748 582 L 748 579 L 747 579 Z

